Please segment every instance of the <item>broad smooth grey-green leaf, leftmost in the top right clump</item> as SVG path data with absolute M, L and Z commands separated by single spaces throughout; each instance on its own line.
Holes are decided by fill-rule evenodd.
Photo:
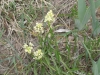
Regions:
M 86 9 L 85 0 L 78 0 L 78 18 L 75 19 L 75 25 L 79 30 L 82 30 L 85 24 L 91 17 L 90 7 Z

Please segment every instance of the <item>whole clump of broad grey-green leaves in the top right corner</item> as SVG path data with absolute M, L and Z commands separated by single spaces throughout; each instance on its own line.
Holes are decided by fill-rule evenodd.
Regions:
M 92 16 L 93 34 L 100 33 L 99 21 L 96 19 L 95 10 L 100 6 L 100 0 L 89 0 L 90 6 L 86 7 L 85 0 L 78 0 L 78 19 L 75 19 L 76 27 L 82 30 Z

